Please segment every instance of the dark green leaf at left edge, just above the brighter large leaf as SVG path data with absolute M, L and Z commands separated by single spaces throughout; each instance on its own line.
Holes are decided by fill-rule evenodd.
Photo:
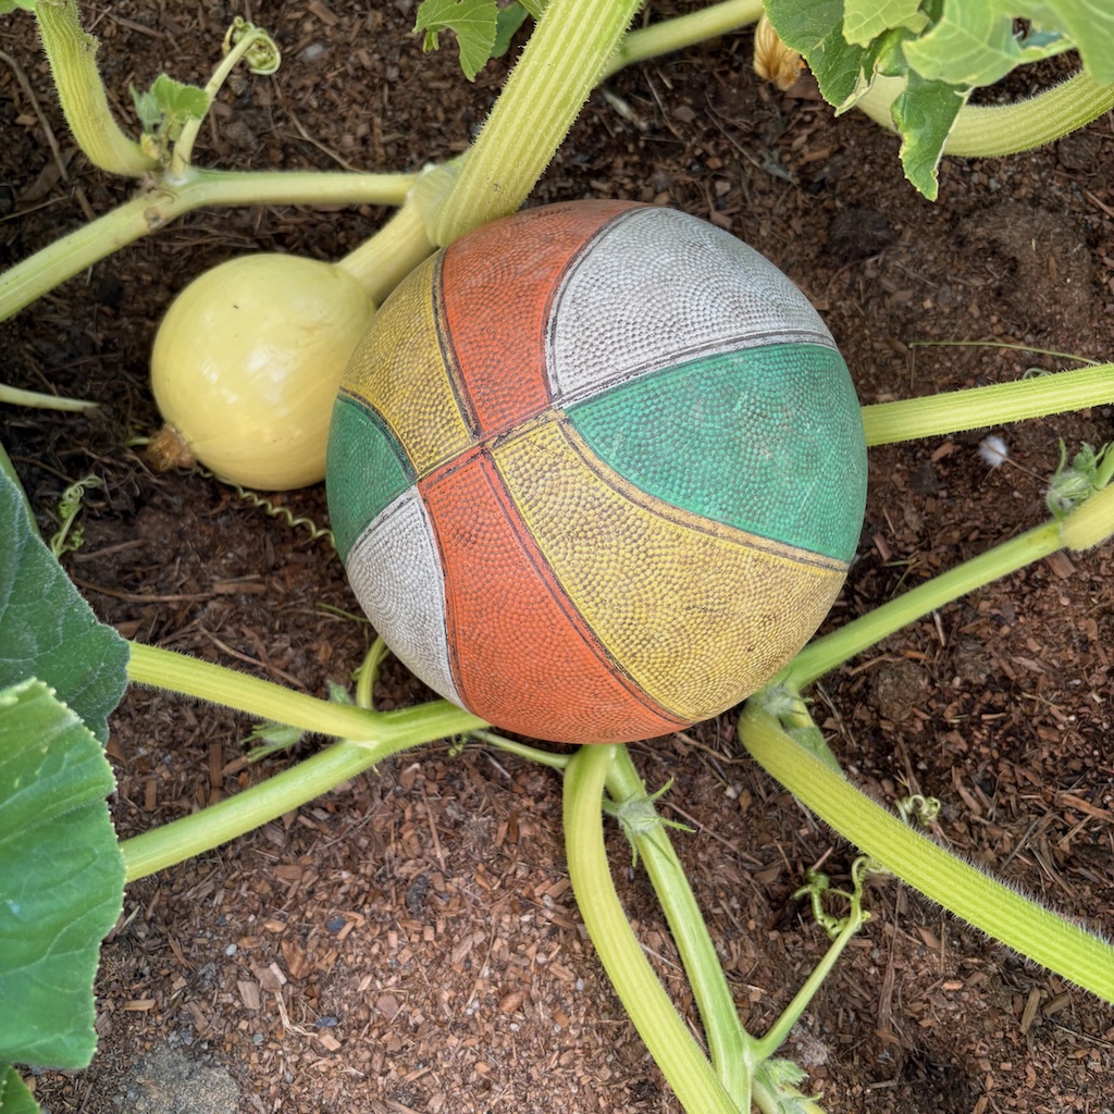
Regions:
M 98 623 L 0 471 L 0 687 L 39 677 L 101 741 L 127 684 L 128 644 Z

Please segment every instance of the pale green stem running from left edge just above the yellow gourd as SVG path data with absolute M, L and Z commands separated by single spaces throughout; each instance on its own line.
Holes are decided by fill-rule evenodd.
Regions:
M 117 248 L 203 205 L 399 205 L 416 177 L 190 169 L 173 189 L 145 190 L 0 274 L 0 321 Z

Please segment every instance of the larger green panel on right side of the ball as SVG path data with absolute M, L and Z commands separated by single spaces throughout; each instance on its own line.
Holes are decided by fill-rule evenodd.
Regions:
M 867 448 L 834 349 L 702 356 L 567 413 L 600 459 L 665 502 L 844 563 L 854 556 Z

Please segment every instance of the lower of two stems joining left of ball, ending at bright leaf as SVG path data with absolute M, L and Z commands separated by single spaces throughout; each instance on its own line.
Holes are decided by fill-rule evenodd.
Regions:
M 353 709 L 359 711 L 359 709 Z M 369 712 L 374 743 L 343 741 L 235 797 L 120 844 L 127 881 L 227 843 L 312 801 L 399 751 L 467 731 L 473 717 L 447 701 L 397 712 Z

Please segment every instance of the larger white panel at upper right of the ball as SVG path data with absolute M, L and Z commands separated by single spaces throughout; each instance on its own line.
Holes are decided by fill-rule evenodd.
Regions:
M 546 360 L 561 405 L 686 360 L 794 342 L 836 348 L 820 314 L 765 256 L 687 213 L 636 208 L 569 268 Z

